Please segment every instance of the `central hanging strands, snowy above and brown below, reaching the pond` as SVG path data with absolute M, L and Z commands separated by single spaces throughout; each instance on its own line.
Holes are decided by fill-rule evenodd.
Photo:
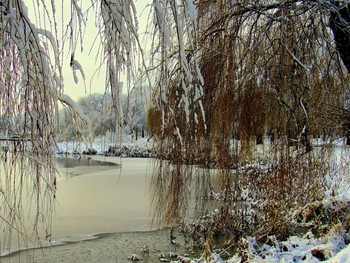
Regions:
M 150 69 L 155 81 L 148 123 L 155 126 L 158 159 L 154 209 L 161 222 L 179 223 L 191 192 L 192 167 L 184 164 L 199 158 L 205 133 L 197 12 L 192 1 L 184 0 L 155 0 L 152 7 Z

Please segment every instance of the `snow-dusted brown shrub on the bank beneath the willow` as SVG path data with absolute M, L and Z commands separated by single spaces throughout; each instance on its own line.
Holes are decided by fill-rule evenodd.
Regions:
M 323 182 L 327 172 L 324 159 L 309 154 L 294 157 L 286 151 L 276 153 L 274 162 L 266 169 L 250 173 L 250 192 L 258 202 L 260 213 L 257 235 L 285 239 L 291 231 L 291 213 L 298 207 L 323 197 Z

